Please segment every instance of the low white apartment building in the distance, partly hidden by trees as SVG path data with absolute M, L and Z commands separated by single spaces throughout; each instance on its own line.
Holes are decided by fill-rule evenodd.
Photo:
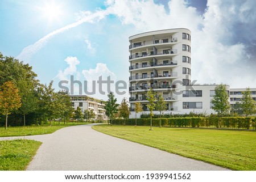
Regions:
M 77 107 L 81 108 L 82 113 L 84 113 L 87 109 L 93 109 L 96 117 L 96 120 L 106 120 L 107 116 L 105 115 L 105 101 L 90 98 L 86 95 L 70 95 L 69 96 L 72 101 L 72 107 L 76 109 Z

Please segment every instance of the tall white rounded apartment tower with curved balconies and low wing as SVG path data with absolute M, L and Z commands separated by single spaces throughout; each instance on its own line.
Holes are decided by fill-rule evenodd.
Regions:
M 216 84 L 191 84 L 189 29 L 145 32 L 129 37 L 129 41 L 131 118 L 135 117 L 137 101 L 142 104 L 142 113 L 149 113 L 146 93 L 150 88 L 163 95 L 167 103 L 164 113 L 215 113 L 210 100 Z M 229 93 L 230 87 L 226 86 L 226 90 Z M 233 104 L 231 99 L 230 96 Z

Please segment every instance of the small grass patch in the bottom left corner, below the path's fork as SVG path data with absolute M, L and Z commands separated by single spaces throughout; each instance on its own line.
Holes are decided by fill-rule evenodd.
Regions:
M 27 139 L 0 141 L 0 170 L 26 170 L 41 144 Z

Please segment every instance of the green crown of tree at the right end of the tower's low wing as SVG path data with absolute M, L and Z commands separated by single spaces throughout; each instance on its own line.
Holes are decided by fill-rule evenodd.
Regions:
M 213 104 L 212 109 L 218 113 L 219 117 L 229 113 L 229 95 L 226 91 L 225 84 L 220 84 L 215 87 L 215 95 L 211 101 Z

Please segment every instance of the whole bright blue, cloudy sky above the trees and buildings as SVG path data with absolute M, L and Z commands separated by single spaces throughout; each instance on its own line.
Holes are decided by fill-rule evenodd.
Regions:
M 56 91 L 72 75 L 82 94 L 96 81 L 91 96 L 106 100 L 97 81 L 110 76 L 118 102 L 129 98 L 115 92 L 115 83 L 129 84 L 129 36 L 169 28 L 192 32 L 196 83 L 256 87 L 255 0 L 1 0 L 0 25 L 0 52 L 30 64 L 41 83 L 53 80 Z

